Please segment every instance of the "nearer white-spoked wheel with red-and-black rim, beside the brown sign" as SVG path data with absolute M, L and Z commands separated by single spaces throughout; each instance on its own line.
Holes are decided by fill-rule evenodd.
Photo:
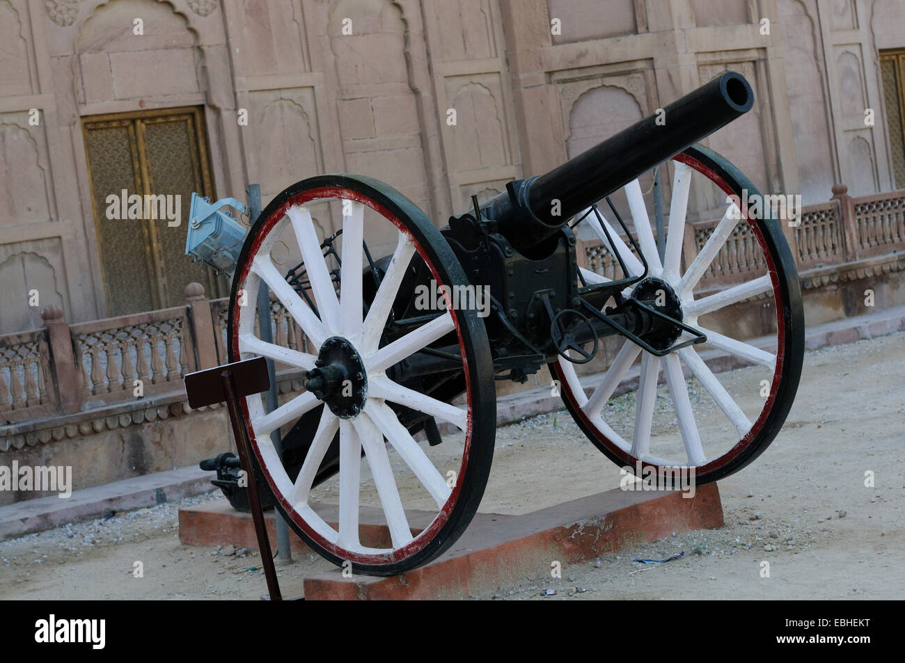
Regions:
M 331 238 L 319 231 L 329 218 L 341 218 Z M 380 247 L 388 255 L 372 261 Z M 279 194 L 249 232 L 233 278 L 230 359 L 270 357 L 308 376 L 308 390 L 273 412 L 260 394 L 245 399 L 254 460 L 294 531 L 358 573 L 402 573 L 441 554 L 472 519 L 490 471 L 496 409 L 483 321 L 448 298 L 408 310 L 412 283 L 425 278 L 467 284 L 424 213 L 358 175 L 313 177 Z M 304 351 L 256 333 L 262 282 L 304 333 Z M 447 356 L 455 348 L 456 370 L 447 365 L 447 380 L 433 375 L 422 389 L 428 382 L 406 375 L 405 362 L 441 347 Z M 428 420 L 440 424 L 432 428 L 443 444 L 414 439 Z M 310 429 L 295 467 L 270 438 L 293 425 Z

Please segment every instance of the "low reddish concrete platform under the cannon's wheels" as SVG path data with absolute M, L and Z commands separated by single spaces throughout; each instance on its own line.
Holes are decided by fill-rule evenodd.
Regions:
M 325 519 L 335 523 L 335 511 Z M 431 515 L 408 511 L 413 533 Z M 275 545 L 274 516 L 268 515 Z M 340 569 L 304 580 L 306 600 L 464 599 L 526 574 L 548 573 L 552 562 L 564 567 L 612 553 L 628 545 L 691 529 L 723 524 L 719 488 L 708 484 L 694 497 L 680 492 L 626 491 L 616 488 L 523 516 L 478 514 L 450 550 L 412 572 L 389 578 L 343 578 Z M 366 545 L 388 545 L 389 533 L 376 509 L 362 513 Z M 293 550 L 308 551 L 292 535 Z M 251 516 L 223 504 L 180 511 L 179 540 L 186 545 L 257 547 Z M 296 548 L 298 545 L 298 548 Z

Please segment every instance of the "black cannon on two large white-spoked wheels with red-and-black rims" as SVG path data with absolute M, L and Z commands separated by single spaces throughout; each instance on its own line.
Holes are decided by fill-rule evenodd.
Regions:
M 219 204 L 196 214 L 193 199 L 186 251 L 232 275 L 230 361 L 268 357 L 303 387 L 271 412 L 260 394 L 242 403 L 294 531 L 357 573 L 443 553 L 488 481 L 496 383 L 532 375 L 636 474 L 702 484 L 767 449 L 801 373 L 795 262 L 780 221 L 752 213 L 757 187 L 698 144 L 753 102 L 724 73 L 545 175 L 472 197 L 442 228 L 362 175 L 291 185 L 241 242 Z M 643 191 L 653 169 L 672 173 L 668 209 Z M 579 236 L 599 240 L 609 273 L 578 260 Z M 262 284 L 279 314 L 271 342 L 255 327 Z

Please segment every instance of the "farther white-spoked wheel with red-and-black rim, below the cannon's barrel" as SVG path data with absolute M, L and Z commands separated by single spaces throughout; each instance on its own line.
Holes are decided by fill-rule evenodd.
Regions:
M 672 161 L 672 199 L 663 205 L 669 210 L 663 260 L 641 186 L 634 180 L 624 187 L 637 243 L 649 267 L 647 277 L 625 289 L 624 296 L 662 291 L 662 304 L 671 315 L 704 333 L 706 344 L 661 357 L 626 339 L 609 368 L 590 385 L 590 393 L 567 359 L 558 358 L 549 367 L 561 382 L 567 409 L 608 458 L 635 474 L 666 481 L 674 477 L 674 468 L 694 468 L 695 482 L 701 484 L 745 467 L 776 437 L 801 375 L 805 324 L 795 261 L 781 222 L 769 213 L 751 218 L 751 210 L 743 203 L 759 195 L 757 187 L 705 147 L 688 148 Z M 719 196 L 723 201 L 736 196 L 734 200 L 741 202 L 728 205 L 710 237 L 691 255 L 683 251 L 690 194 L 697 194 L 698 200 L 708 194 L 711 200 Z M 631 276 L 640 276 L 642 261 L 614 231 L 613 220 L 606 219 L 608 213 L 603 213 L 602 223 L 595 214 L 581 223 L 590 224 L 605 248 L 623 258 Z M 606 239 L 604 226 L 614 245 Z M 738 260 L 751 269 L 728 286 L 701 294 L 700 280 L 734 232 L 737 237 L 738 232 L 745 233 L 740 244 L 745 255 Z M 582 274 L 587 284 L 606 280 L 589 270 Z M 748 305 L 732 309 L 729 321 L 728 308 L 745 301 Z M 746 336 L 719 333 L 720 326 L 770 327 L 772 337 L 756 346 Z M 683 333 L 678 340 L 687 338 L 691 336 Z M 718 373 L 705 361 L 717 360 L 717 353 L 735 362 L 730 365 L 740 360 L 753 367 Z

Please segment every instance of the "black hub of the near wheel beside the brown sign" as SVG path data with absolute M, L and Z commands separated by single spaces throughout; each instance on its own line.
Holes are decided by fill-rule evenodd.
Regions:
M 305 388 L 341 419 L 351 419 L 365 407 L 367 372 L 361 356 L 347 339 L 331 336 L 320 346 L 318 359 L 305 374 Z

